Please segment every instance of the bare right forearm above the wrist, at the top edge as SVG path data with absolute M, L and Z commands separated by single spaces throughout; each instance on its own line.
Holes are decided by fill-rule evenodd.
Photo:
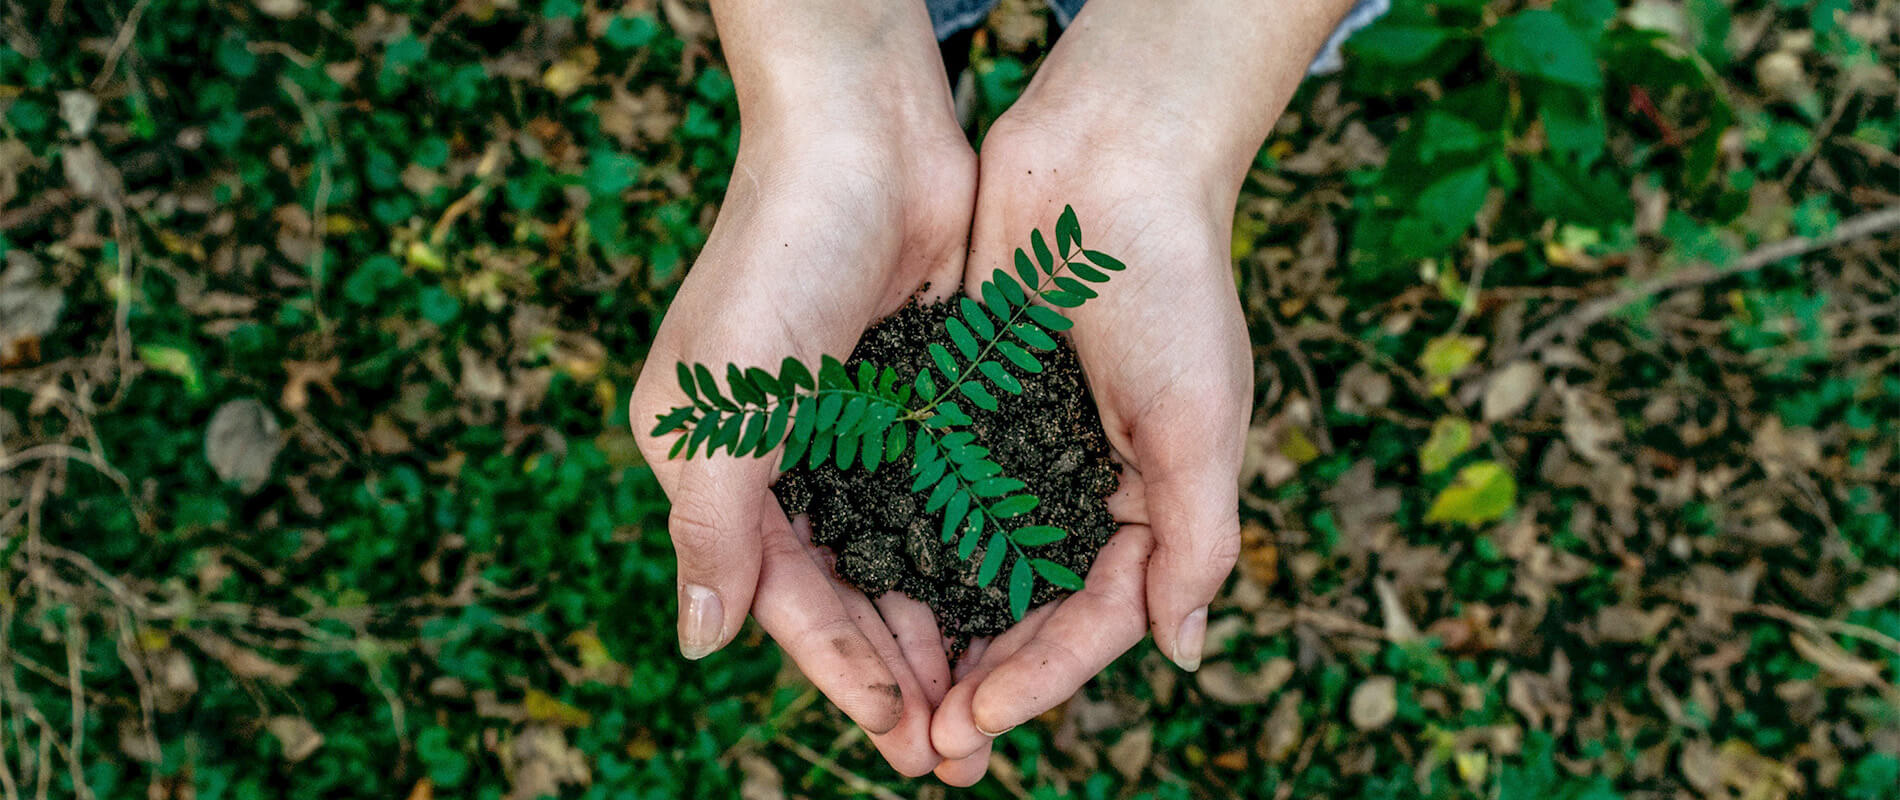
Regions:
M 1353 0 L 1089 0 L 1024 103 L 1094 114 L 1237 186 Z

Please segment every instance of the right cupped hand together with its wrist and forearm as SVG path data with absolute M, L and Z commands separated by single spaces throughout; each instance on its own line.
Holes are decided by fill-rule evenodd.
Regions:
M 1338 6 L 1338 8 L 1332 8 Z M 982 144 L 965 285 L 1074 205 L 1127 272 L 1068 310 L 1123 466 L 1121 530 L 1085 589 L 978 642 L 931 720 L 944 783 L 1066 701 L 1151 631 L 1201 665 L 1206 606 L 1239 557 L 1237 475 L 1252 353 L 1233 285 L 1233 207 L 1254 152 L 1343 4 L 1091 0 Z M 1271 21 L 1262 11 L 1281 19 Z

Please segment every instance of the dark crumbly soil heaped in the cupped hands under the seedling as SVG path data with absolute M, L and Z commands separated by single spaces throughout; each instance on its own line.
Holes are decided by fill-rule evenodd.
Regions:
M 904 306 L 864 333 L 847 369 L 872 361 L 895 369 L 908 384 L 929 363 L 925 348 L 931 342 L 956 352 L 944 333 L 950 308 Z M 1037 357 L 1045 367 L 1039 374 L 1001 361 L 1022 380 L 1022 393 L 996 391 L 998 410 L 986 412 L 971 403 L 960 407 L 975 420 L 971 431 L 977 443 L 990 448 L 1003 475 L 1028 483 L 1026 492 L 1041 498 L 1034 511 L 1009 524 L 1053 524 L 1070 532 L 1062 542 L 1028 553 L 1087 576 L 1096 551 L 1115 532 L 1108 496 L 1115 492 L 1119 467 L 1110 460 L 1108 435 L 1075 352 L 1062 342 Z M 942 511 L 923 513 L 925 498 L 910 492 L 910 448 L 904 448 L 901 460 L 882 464 L 874 473 L 863 467 L 840 471 L 830 464 L 800 467 L 785 473 L 773 490 L 787 513 L 811 519 L 811 538 L 834 553 L 840 578 L 870 597 L 895 589 L 923 600 L 937 612 L 954 652 L 961 654 L 973 637 L 990 637 L 1015 623 L 1007 583 L 1016 555 L 1009 553 L 1001 574 L 988 587 L 978 587 L 982 545 L 961 561 L 956 540 L 942 542 Z M 1037 580 L 1030 608 L 1062 595 L 1068 591 Z

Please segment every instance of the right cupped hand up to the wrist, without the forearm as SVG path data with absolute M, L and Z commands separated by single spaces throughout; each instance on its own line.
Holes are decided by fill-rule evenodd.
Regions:
M 1201 663 L 1206 606 L 1239 555 L 1252 357 L 1227 255 L 1237 188 L 1172 144 L 1030 101 L 984 139 L 967 285 L 1007 268 L 1064 205 L 1085 247 L 1127 264 L 1066 312 L 1121 462 L 1121 530 L 1083 591 L 960 665 L 933 720 L 946 783 L 982 777 L 996 733 L 1066 701 L 1148 631 L 1182 669 Z

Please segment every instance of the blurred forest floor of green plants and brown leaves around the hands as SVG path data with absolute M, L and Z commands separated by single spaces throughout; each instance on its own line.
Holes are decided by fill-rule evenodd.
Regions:
M 1208 665 L 971 794 L 1894 796 L 1900 2 L 1396 6 L 1241 198 Z M 6 4 L 0 796 L 944 796 L 676 657 L 625 397 L 735 146 L 690 0 Z

